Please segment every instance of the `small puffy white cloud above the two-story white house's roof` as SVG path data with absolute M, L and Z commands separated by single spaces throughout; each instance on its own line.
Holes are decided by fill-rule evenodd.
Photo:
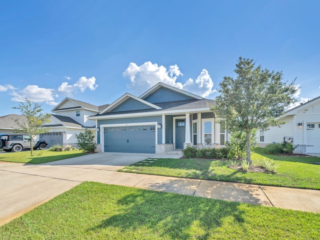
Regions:
M 65 95 L 72 95 L 72 92 L 76 90 L 80 90 L 83 92 L 86 88 L 90 90 L 95 90 L 98 85 L 95 84 L 95 77 L 86 78 L 85 76 L 81 76 L 74 84 L 69 84 L 67 82 L 62 82 L 58 87 L 58 91 L 64 93 Z

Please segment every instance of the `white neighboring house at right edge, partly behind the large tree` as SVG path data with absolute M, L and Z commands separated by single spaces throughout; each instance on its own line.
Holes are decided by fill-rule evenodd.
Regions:
M 293 145 L 298 144 L 297 153 L 320 153 L 320 96 L 286 111 L 278 120 L 285 124 L 257 132 L 259 146 L 286 137 Z

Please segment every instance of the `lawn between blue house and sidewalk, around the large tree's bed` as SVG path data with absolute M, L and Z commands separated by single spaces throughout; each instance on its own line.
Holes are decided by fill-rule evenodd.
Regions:
M 218 181 L 242 182 L 271 186 L 320 189 L 319 157 L 268 155 L 257 148 L 251 159 L 272 158 L 280 164 L 277 173 L 253 173 L 228 168 L 228 160 L 159 158 L 138 162 L 122 171 Z M 148 163 L 148 164 L 145 164 Z

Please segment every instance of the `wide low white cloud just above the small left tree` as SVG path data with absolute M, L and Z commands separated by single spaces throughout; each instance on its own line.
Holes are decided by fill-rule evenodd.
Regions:
M 12 101 L 24 101 L 28 98 L 31 101 L 42 102 L 42 101 L 53 101 L 53 89 L 42 88 L 37 85 L 27 85 L 20 91 L 12 91 L 10 93 L 13 97 Z

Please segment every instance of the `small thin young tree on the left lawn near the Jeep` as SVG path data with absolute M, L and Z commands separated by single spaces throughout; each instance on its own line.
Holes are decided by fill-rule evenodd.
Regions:
M 44 132 L 49 131 L 49 128 L 43 127 L 43 124 L 45 122 L 50 121 L 48 119 L 50 114 L 42 113 L 43 109 L 41 108 L 41 105 L 39 103 L 31 101 L 27 98 L 25 98 L 25 102 L 21 101 L 19 103 L 19 106 L 14 106 L 12 108 L 19 109 L 21 115 L 23 115 L 25 117 L 24 119 L 16 118 L 13 120 L 19 126 L 19 128 L 16 129 L 17 132 L 24 132 L 30 136 L 30 138 L 31 138 L 31 140 L 30 140 L 30 146 L 31 146 L 30 154 L 32 156 L 33 155 L 33 148 L 32 148 L 33 137 L 39 133 L 44 133 Z

